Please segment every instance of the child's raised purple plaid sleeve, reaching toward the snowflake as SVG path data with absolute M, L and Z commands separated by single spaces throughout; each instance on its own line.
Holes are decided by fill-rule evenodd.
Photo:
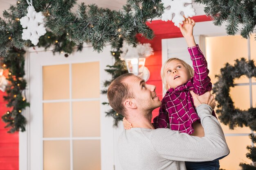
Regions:
M 211 79 L 208 76 L 207 61 L 199 46 L 188 48 L 194 68 L 193 87 L 196 94 L 204 94 L 211 91 Z

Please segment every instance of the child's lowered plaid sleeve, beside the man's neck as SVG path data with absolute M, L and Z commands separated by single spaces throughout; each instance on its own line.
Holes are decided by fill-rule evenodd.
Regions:
M 162 100 L 162 105 L 159 108 L 159 114 L 153 119 L 153 126 L 157 128 L 168 128 L 168 112 L 166 111 L 166 103 Z

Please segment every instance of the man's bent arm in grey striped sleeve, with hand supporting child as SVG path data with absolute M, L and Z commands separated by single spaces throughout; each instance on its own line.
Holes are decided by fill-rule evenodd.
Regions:
M 195 137 L 169 129 L 157 129 L 152 134 L 151 141 L 160 156 L 174 161 L 212 161 L 229 154 L 221 126 L 211 115 L 211 107 L 215 107 L 213 104 L 215 100 L 212 96 L 209 98 L 208 92 L 202 96 L 205 95 L 208 95 L 208 99 L 198 99 L 193 96 L 205 136 Z

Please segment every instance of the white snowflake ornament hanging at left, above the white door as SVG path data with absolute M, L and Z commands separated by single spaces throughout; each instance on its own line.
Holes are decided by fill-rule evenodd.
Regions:
M 42 12 L 36 12 L 33 6 L 27 8 L 27 15 L 20 19 L 23 29 L 22 39 L 30 40 L 35 46 L 38 44 L 40 36 L 45 35 L 46 30 L 43 24 Z

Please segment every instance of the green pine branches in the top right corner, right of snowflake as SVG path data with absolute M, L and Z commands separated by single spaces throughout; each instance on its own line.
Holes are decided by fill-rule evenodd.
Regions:
M 195 0 L 206 5 L 204 12 L 216 26 L 226 24 L 228 35 L 240 35 L 248 39 L 256 33 L 256 0 Z M 238 26 L 243 27 L 239 30 Z M 256 36 L 255 36 L 256 39 Z

